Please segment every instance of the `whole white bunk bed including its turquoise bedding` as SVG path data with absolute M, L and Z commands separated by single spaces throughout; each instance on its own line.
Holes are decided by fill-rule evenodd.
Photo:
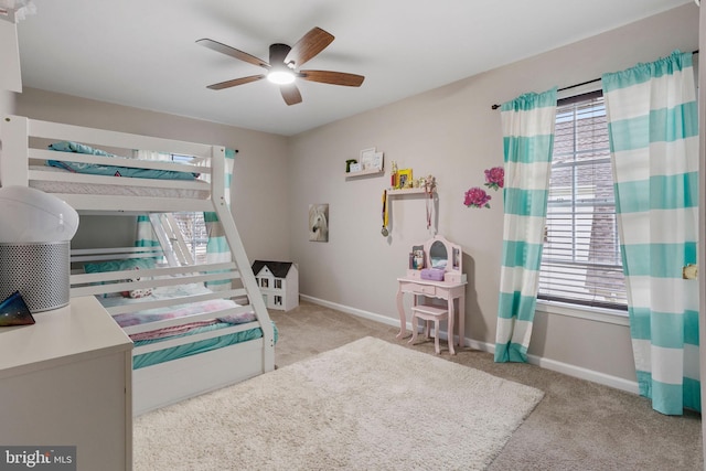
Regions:
M 98 298 L 133 340 L 133 415 L 274 370 L 277 329 L 228 208 L 225 148 L 19 116 L 3 117 L 0 141 L 0 185 L 52 193 L 82 216 L 149 216 L 157 246 L 72 249 L 71 297 Z M 229 260 L 189 257 L 178 212 L 215 214 Z

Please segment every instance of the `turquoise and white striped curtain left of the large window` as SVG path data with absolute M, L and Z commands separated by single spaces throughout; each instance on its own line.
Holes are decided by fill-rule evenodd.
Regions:
M 525 94 L 501 107 L 505 159 L 503 258 L 495 362 L 526 362 L 537 302 L 556 94 Z

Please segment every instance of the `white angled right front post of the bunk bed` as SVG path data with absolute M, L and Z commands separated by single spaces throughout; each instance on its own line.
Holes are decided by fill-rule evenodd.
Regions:
M 221 221 L 221 224 L 223 224 L 223 231 L 225 232 L 226 239 L 231 246 L 231 256 L 233 257 L 233 261 L 235 261 L 240 274 L 240 280 L 247 291 L 249 302 L 255 309 L 255 315 L 257 315 L 257 320 L 260 321 L 263 341 L 265 342 L 263 364 L 265 372 L 270 372 L 275 370 L 275 330 L 272 329 L 272 324 L 269 322 L 269 314 L 265 317 L 268 321 L 263 322 L 260 313 L 266 313 L 267 307 L 265 306 L 265 300 L 263 300 L 263 295 L 257 286 L 257 281 L 255 280 L 255 275 L 253 275 L 253 267 L 247 258 L 235 220 L 233 214 L 231 214 L 231 208 L 228 207 L 224 195 L 225 148 L 213 147 L 211 167 L 211 178 L 213 179 L 211 199 L 213 200 L 213 205 L 216 210 L 216 214 L 218 215 L 218 220 Z

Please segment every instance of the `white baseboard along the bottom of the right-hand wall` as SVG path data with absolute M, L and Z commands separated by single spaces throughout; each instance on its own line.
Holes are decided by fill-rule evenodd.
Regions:
M 372 321 L 381 322 L 386 325 L 399 327 L 397 319 L 389 318 L 387 315 L 381 315 L 375 312 L 364 311 L 362 309 L 352 308 L 350 306 L 339 304 L 335 302 L 327 301 L 323 299 L 314 298 L 307 295 L 300 295 L 300 298 L 314 304 L 323 306 L 327 308 L 335 309 L 336 311 L 345 312 L 347 314 L 357 315 L 359 318 L 368 319 Z M 411 323 L 407 322 L 407 329 L 411 330 Z M 446 332 L 441 332 L 441 339 L 446 340 Z M 463 339 L 463 345 L 470 346 L 473 350 L 480 350 L 481 352 L 494 353 L 495 345 L 486 342 L 479 342 L 473 339 Z M 542 356 L 528 355 L 528 362 L 533 365 L 550 370 L 557 373 L 573 376 L 579 379 L 590 381 L 592 383 L 610 386 L 616 389 L 625 390 L 632 394 L 640 394 L 638 383 L 634 381 L 624 379 L 618 376 L 611 376 L 601 372 L 587 370 L 581 366 L 571 365 L 568 363 L 558 362 L 552 358 L 544 358 Z

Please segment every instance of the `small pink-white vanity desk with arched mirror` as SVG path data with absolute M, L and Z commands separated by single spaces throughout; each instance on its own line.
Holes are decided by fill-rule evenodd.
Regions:
M 456 314 L 458 313 L 458 345 L 463 345 L 466 333 L 466 275 L 462 272 L 461 247 L 448 242 L 442 236 L 436 236 L 427 240 L 424 246 L 425 267 L 438 267 L 442 269 L 443 279 L 430 280 L 421 278 L 421 270 L 409 268 L 407 276 L 397 278 L 397 311 L 399 314 L 399 333 L 397 339 L 407 335 L 407 315 L 405 313 L 404 296 L 413 296 L 413 308 L 418 306 L 419 297 L 438 298 L 447 301 L 448 309 L 448 335 L 449 352 L 456 354 L 453 344 Z M 456 301 L 458 300 L 458 301 Z M 458 309 L 456 306 L 458 303 Z M 435 333 L 438 335 L 438 332 Z

